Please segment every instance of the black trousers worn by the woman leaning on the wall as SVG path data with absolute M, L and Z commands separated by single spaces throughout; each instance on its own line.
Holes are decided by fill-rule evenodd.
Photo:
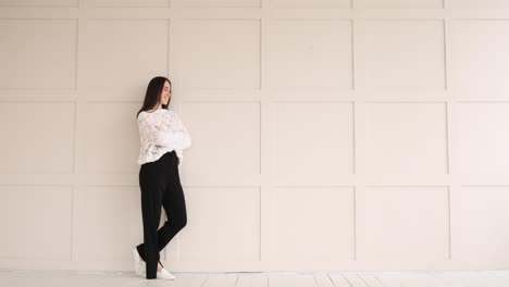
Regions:
M 187 224 L 186 202 L 177 165 L 178 158 L 175 151 L 171 151 L 156 162 L 142 164 L 139 171 L 144 244 L 136 248 L 146 262 L 147 279 L 157 277 L 159 252 Z M 161 205 L 167 221 L 158 230 Z

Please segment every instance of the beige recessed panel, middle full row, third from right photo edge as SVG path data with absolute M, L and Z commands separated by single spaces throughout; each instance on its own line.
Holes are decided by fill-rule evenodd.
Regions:
M 281 102 L 273 109 L 277 183 L 323 184 L 353 173 L 351 103 Z

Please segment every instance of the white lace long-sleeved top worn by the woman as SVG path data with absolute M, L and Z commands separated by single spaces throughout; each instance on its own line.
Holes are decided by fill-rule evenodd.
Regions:
M 164 153 L 175 150 L 178 165 L 183 151 L 191 146 L 191 139 L 178 115 L 172 110 L 159 109 L 138 114 L 139 158 L 138 164 L 154 162 Z

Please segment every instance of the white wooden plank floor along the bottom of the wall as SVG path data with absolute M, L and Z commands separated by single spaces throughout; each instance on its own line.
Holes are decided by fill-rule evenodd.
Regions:
M 174 274 L 175 280 L 147 280 L 134 273 L 0 271 L 0 286 L 509 287 L 509 271 Z

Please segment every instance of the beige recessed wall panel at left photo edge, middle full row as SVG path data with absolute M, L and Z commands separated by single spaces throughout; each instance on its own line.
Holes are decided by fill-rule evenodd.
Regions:
M 71 102 L 1 102 L 2 173 L 72 173 L 75 107 Z

